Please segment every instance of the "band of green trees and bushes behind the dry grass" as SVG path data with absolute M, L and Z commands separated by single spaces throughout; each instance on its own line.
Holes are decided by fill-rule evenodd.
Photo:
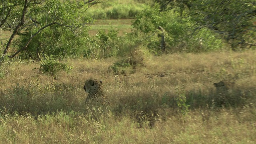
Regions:
M 107 58 L 143 46 L 153 54 L 255 48 L 254 0 L 128 0 L 1 3 L 1 52 L 22 59 Z M 132 32 L 89 35 L 95 19 L 133 19 Z M 162 30 L 159 29 L 162 27 Z M 3 58 L 2 58 L 3 59 Z

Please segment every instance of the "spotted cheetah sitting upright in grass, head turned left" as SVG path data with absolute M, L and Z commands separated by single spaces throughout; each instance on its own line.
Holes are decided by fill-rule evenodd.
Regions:
M 85 92 L 89 93 L 85 103 L 98 101 L 104 98 L 103 86 L 101 80 L 89 79 L 84 84 Z

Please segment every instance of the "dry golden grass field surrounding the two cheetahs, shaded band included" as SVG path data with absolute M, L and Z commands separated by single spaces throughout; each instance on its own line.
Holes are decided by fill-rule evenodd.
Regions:
M 37 62 L 4 63 L 0 143 L 253 144 L 255 57 L 252 50 L 147 55 L 144 66 L 118 76 L 110 69 L 118 59 L 70 59 L 63 62 L 72 71 L 56 80 L 41 74 Z M 91 77 L 103 80 L 110 105 L 84 105 L 83 84 Z M 222 79 L 235 81 L 225 94 L 213 85 Z M 188 111 L 177 105 L 183 95 Z

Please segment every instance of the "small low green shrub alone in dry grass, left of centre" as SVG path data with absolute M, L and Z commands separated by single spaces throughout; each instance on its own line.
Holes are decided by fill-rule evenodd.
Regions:
M 50 76 L 56 76 L 58 72 L 61 70 L 68 72 L 72 69 L 68 64 L 60 63 L 57 60 L 53 60 L 52 58 L 48 58 L 42 62 L 39 70 L 45 74 L 49 74 Z

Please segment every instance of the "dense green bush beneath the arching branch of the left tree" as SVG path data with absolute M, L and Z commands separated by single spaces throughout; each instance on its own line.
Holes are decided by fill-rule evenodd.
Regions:
M 60 26 L 48 27 L 32 39 L 28 48 L 20 54 L 20 57 L 39 60 L 45 56 L 79 57 L 83 49 L 86 48 L 87 36 L 87 28 L 81 28 L 81 30 L 74 33 Z M 20 45 L 25 45 L 29 38 L 29 35 L 20 36 Z

